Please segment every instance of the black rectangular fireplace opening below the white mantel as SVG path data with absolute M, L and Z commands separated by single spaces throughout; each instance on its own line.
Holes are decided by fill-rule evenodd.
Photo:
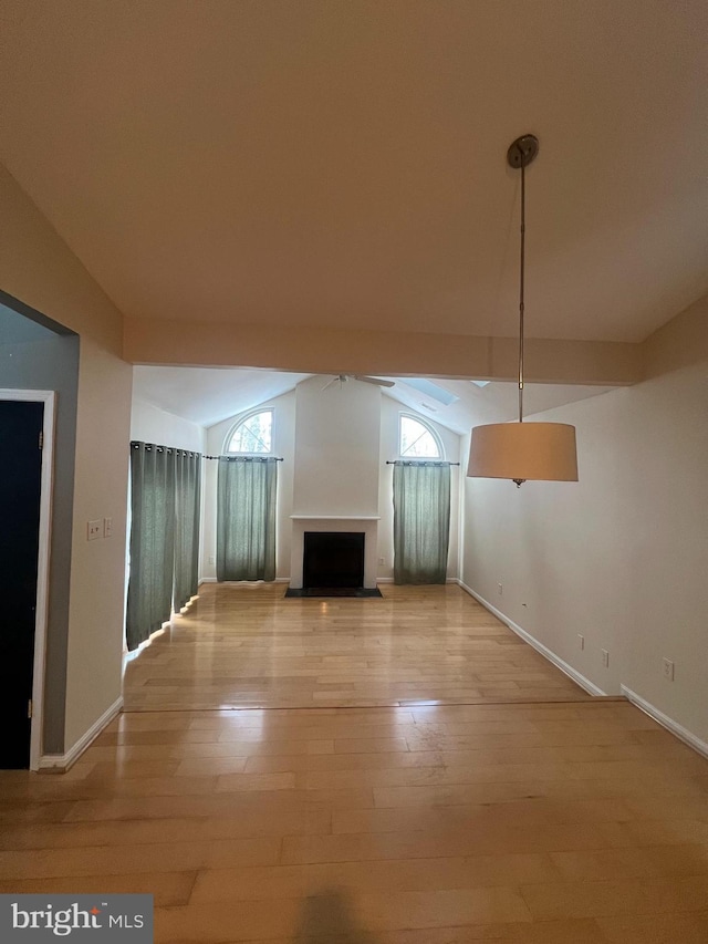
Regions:
M 364 587 L 363 531 L 305 531 L 302 585 Z

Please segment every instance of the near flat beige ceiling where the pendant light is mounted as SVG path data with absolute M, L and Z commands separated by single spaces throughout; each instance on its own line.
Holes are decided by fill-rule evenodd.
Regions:
M 639 341 L 708 291 L 705 0 L 0 0 L 0 156 L 133 318 Z

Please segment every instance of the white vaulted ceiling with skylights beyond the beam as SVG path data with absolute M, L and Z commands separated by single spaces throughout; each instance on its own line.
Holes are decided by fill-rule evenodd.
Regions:
M 309 376 L 312 374 L 136 366 L 133 369 L 133 394 L 167 413 L 208 427 L 288 393 Z M 336 385 L 324 390 L 331 380 L 332 375 L 322 376 L 323 396 L 336 395 Z M 383 393 L 456 433 L 469 432 L 476 423 L 512 419 L 517 415 L 518 390 L 514 384 L 491 383 L 480 388 L 468 381 L 435 378 L 435 384 L 458 397 L 456 403 L 444 406 L 408 386 L 405 377 L 389 380 L 395 382 L 395 386 Z M 524 388 L 524 415 L 596 396 L 608 390 L 611 387 L 529 384 Z

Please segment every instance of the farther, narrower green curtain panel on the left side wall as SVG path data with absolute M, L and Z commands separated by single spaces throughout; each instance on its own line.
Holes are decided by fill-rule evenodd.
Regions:
M 173 609 L 178 613 L 199 588 L 199 505 L 201 456 L 174 450 L 175 464 L 175 581 Z

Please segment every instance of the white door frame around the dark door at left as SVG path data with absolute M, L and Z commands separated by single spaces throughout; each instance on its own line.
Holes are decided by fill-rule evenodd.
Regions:
M 0 400 L 44 404 L 40 484 L 39 552 L 37 560 L 37 606 L 34 611 L 34 660 L 32 666 L 32 725 L 30 770 L 39 770 L 44 720 L 44 670 L 49 618 L 49 566 L 52 532 L 52 488 L 54 480 L 54 424 L 56 396 L 52 390 L 3 390 Z

